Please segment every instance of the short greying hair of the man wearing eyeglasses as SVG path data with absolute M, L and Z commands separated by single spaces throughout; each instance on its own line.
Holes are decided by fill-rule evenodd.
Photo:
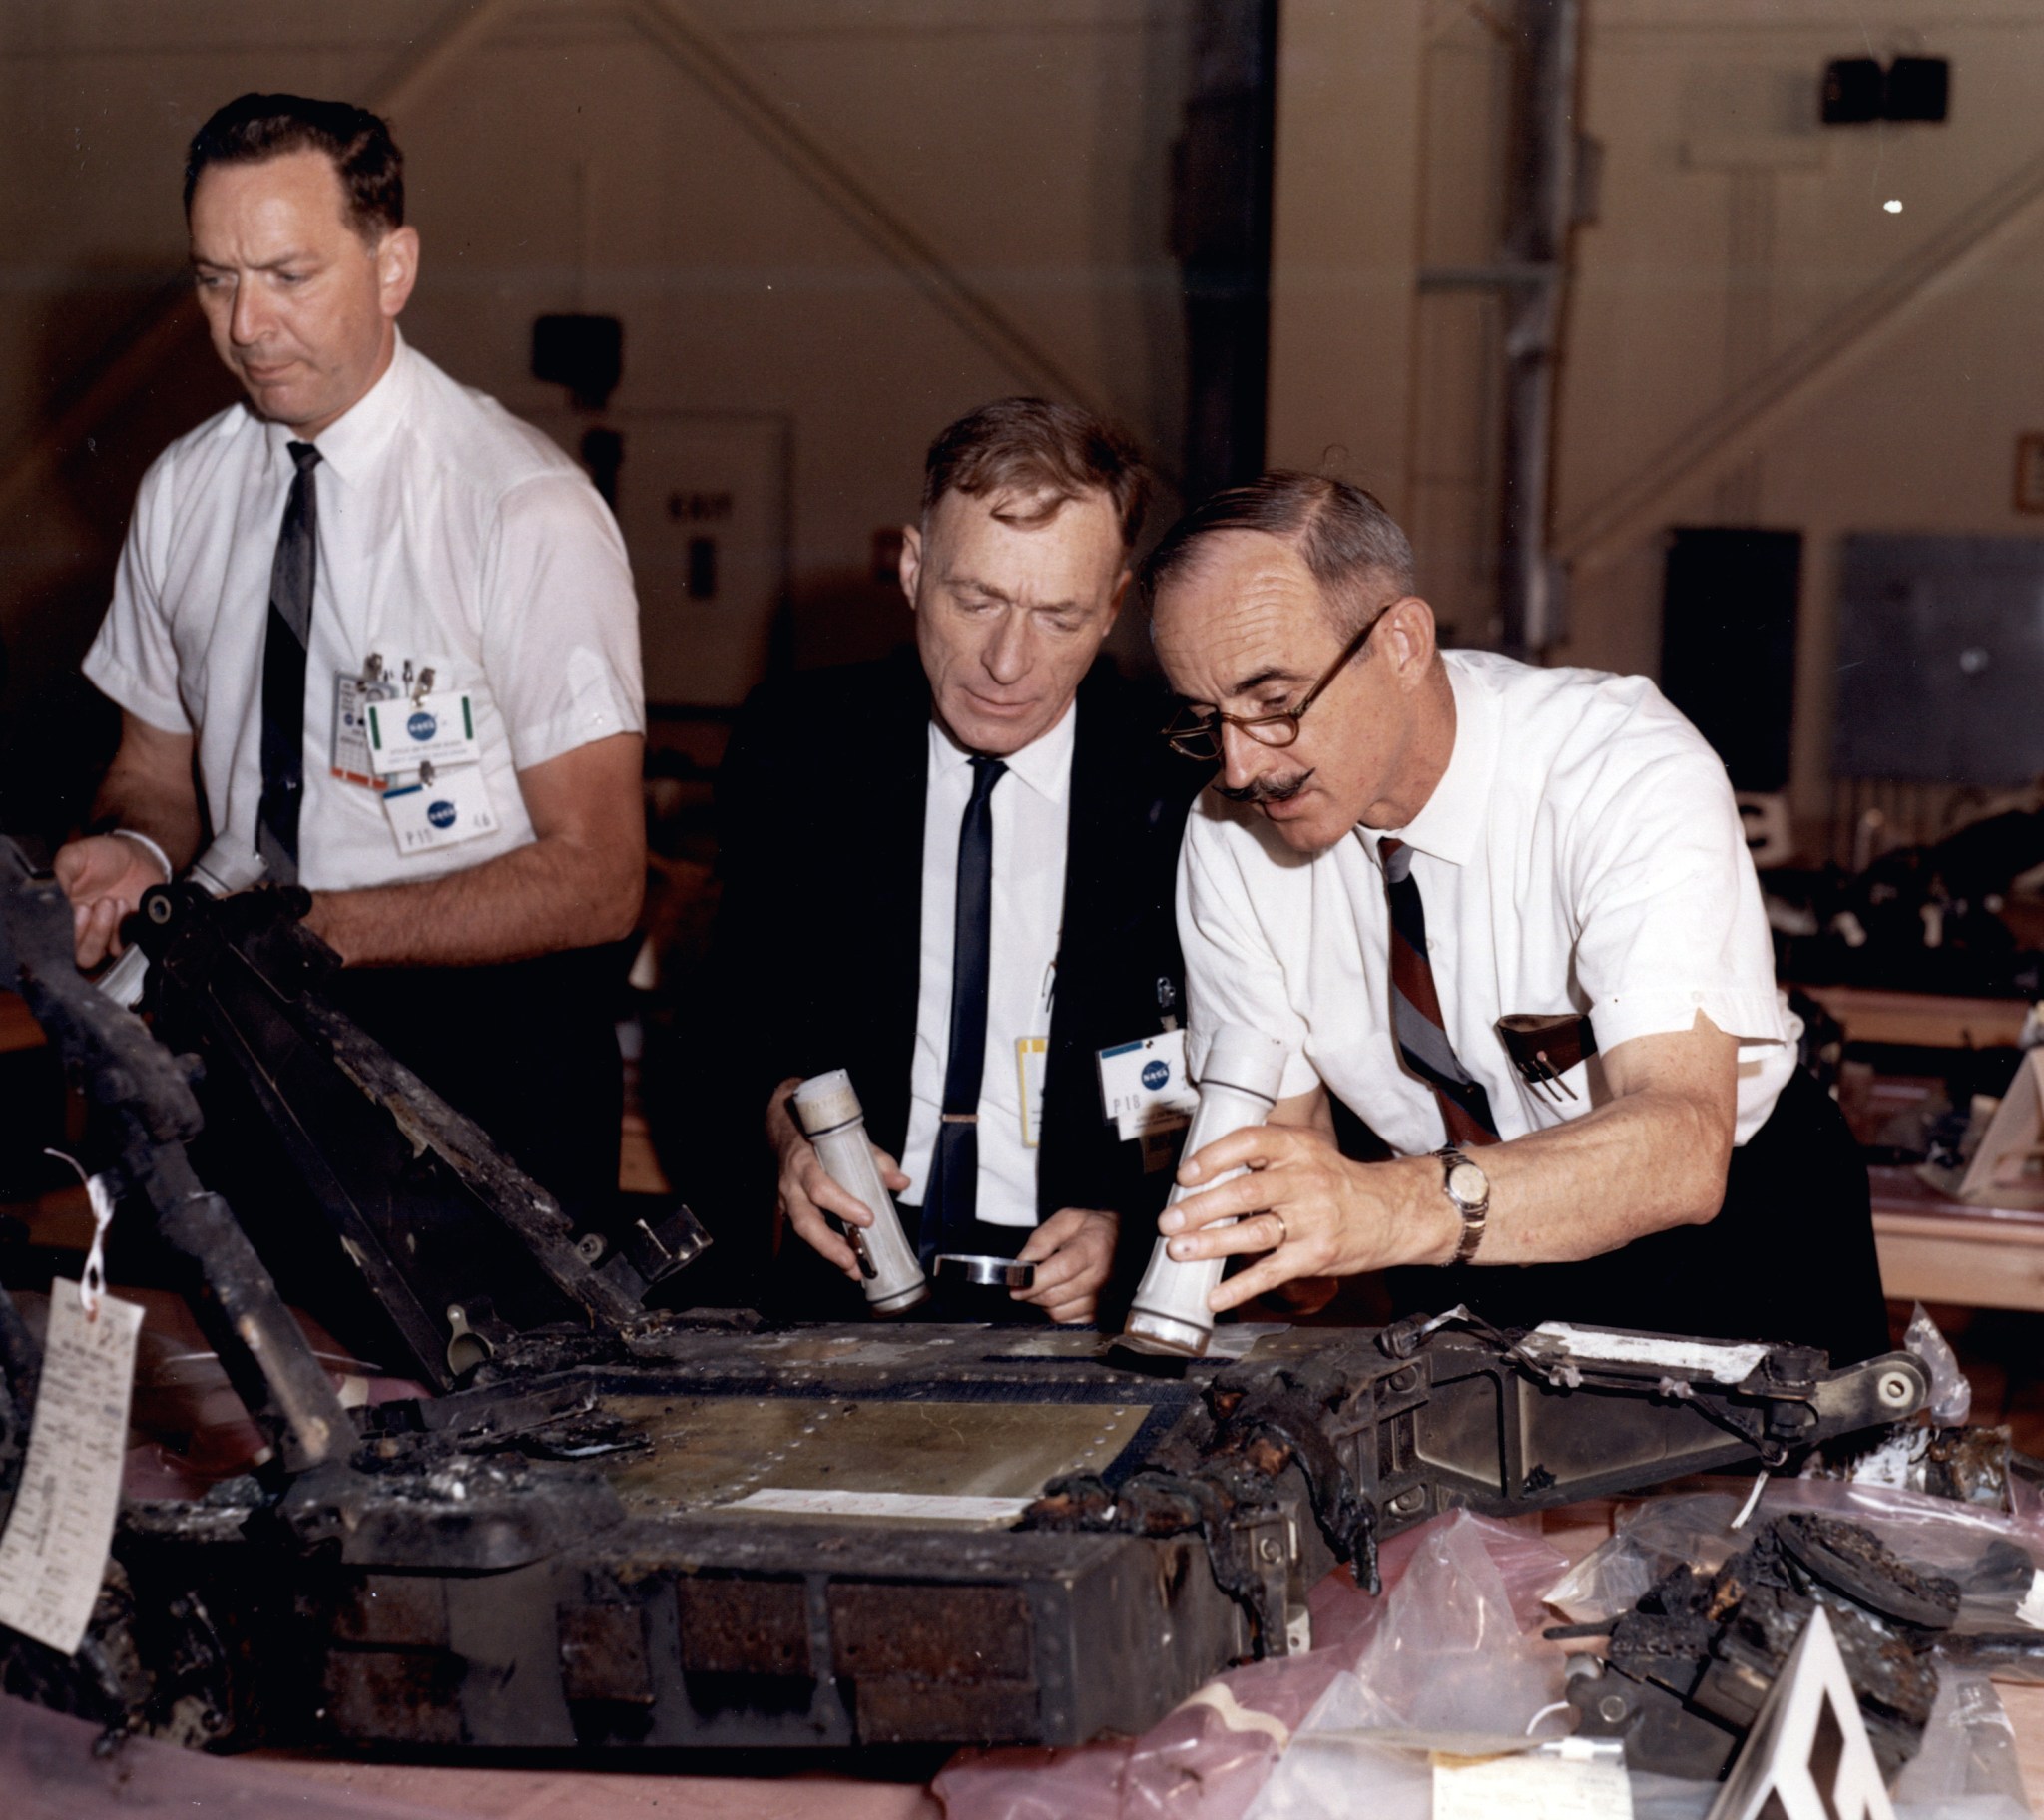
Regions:
M 1175 574 L 1198 560 L 1198 545 L 1222 531 L 1282 537 L 1320 584 L 1329 619 L 1343 637 L 1363 629 L 1384 605 L 1384 588 L 1412 592 L 1412 545 L 1374 492 L 1273 468 L 1243 486 L 1226 486 L 1179 519 L 1143 564 L 1145 598 L 1157 598 Z

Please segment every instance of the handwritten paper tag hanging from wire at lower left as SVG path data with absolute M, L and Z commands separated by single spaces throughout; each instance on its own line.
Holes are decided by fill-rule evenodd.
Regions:
M 0 1536 L 0 1624 L 76 1655 L 106 1577 L 121 1512 L 141 1305 L 84 1283 L 49 1287 L 29 1458 Z

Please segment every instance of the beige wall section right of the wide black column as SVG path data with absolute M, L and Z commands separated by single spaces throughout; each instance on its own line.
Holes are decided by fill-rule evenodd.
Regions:
M 1492 255 L 1502 49 L 1482 8 L 1447 0 L 1286 0 L 1284 18 L 1292 49 L 1333 49 L 1355 96 L 1414 116 L 1421 155 L 1384 153 L 1367 210 L 1353 165 L 1280 159 L 1278 272 L 1367 294 L 1372 329 L 1361 351 L 1355 337 L 1275 337 L 1271 445 L 1308 462 L 1320 443 L 1365 449 L 1357 478 L 1402 500 L 1425 586 L 1482 641 L 1494 306 L 1464 292 L 1400 300 L 1388 274 L 1404 245 L 1412 280 Z M 1666 527 L 1801 529 L 1795 791 L 1817 815 L 1840 539 L 2044 531 L 2011 505 L 2015 437 L 2044 429 L 2044 8 L 1592 0 L 1586 18 L 1582 127 L 1602 141 L 1605 184 L 1576 241 L 1555 474 L 1572 637 L 1551 656 L 1656 670 Z M 1827 59 L 1911 47 L 1952 59 L 1950 123 L 1815 125 Z M 1282 110 L 1314 116 L 1284 123 L 1282 151 L 1329 131 L 1320 96 L 1339 88 L 1318 67 L 1312 88 L 1282 94 Z M 1333 372 L 1316 374 L 1329 347 Z M 1372 402 L 1400 390 L 1402 437 Z

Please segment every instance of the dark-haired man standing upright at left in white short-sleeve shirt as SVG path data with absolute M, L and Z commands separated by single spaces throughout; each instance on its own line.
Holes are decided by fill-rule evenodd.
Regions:
M 186 219 L 247 400 L 149 468 L 86 656 L 123 737 L 102 831 L 55 862 L 78 960 L 211 835 L 215 878 L 311 893 L 339 1001 L 429 1085 L 564 1201 L 615 1189 L 615 1042 L 576 964 L 644 887 L 615 521 L 399 335 L 419 235 L 374 114 L 229 102 L 192 141 Z M 372 756 L 427 721 L 437 766 Z

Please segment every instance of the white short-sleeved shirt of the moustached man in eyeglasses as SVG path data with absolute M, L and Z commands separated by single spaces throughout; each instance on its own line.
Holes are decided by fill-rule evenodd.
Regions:
M 1506 1013 L 1588 1013 L 1611 1052 L 1705 1013 L 1739 1040 L 1737 1142 L 1795 1068 L 1760 880 L 1717 754 L 1641 676 L 1447 652 L 1455 746 L 1408 827 L 1294 854 L 1253 807 L 1202 795 L 1179 856 L 1194 1066 L 1220 1023 L 1290 1044 L 1286 1095 L 1325 1083 L 1396 1152 L 1445 1140 L 1433 1089 L 1398 1058 L 1378 840 L 1412 850 L 1449 1040 L 1500 1138 L 1588 1111 L 1527 1085 Z

